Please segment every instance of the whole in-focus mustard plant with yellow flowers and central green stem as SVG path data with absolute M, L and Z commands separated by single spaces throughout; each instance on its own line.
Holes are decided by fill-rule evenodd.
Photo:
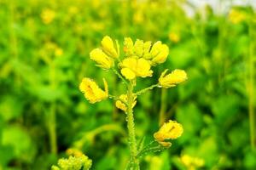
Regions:
M 177 139 L 183 133 L 183 126 L 175 121 L 169 120 L 164 123 L 160 130 L 154 133 L 154 140 L 144 145 L 143 141 L 137 143 L 133 108 L 137 104 L 137 97 L 146 93 L 153 88 L 173 88 L 178 83 L 187 79 L 187 74 L 183 70 L 174 70 L 168 73 L 168 69 L 160 75 L 159 81 L 155 84 L 137 92 L 134 88 L 137 84 L 137 78 L 152 77 L 152 67 L 164 63 L 169 54 L 169 48 L 166 44 L 158 41 L 143 42 L 137 39 L 133 42 L 130 37 L 124 40 L 124 56 L 120 56 L 119 42 L 113 42 L 111 37 L 102 38 L 102 47 L 95 48 L 90 52 L 90 59 L 96 62 L 98 67 L 106 71 L 113 71 L 123 82 L 126 94 L 114 96 L 108 93 L 108 82 L 103 78 L 104 90 L 97 83 L 89 78 L 84 77 L 79 85 L 80 91 L 91 104 L 103 99 L 115 100 L 115 105 L 126 114 L 128 143 L 131 152 L 131 159 L 127 163 L 126 169 L 140 169 L 140 159 L 150 152 L 165 150 L 171 146 L 169 139 Z

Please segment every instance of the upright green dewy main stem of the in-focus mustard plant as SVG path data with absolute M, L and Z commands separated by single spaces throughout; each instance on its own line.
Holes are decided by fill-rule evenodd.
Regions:
M 133 83 L 130 82 L 128 85 L 128 93 L 127 93 L 127 128 L 129 134 L 129 145 L 130 145 L 130 152 L 131 152 L 131 160 L 133 164 L 134 170 L 138 170 L 139 161 L 137 160 L 137 142 L 136 142 L 136 135 L 135 135 L 135 124 L 134 124 L 134 116 L 132 111 L 132 104 L 133 104 Z

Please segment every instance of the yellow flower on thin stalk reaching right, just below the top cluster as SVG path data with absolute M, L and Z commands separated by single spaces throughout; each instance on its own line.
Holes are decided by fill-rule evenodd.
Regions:
M 163 88 L 172 88 L 175 87 L 178 83 L 184 82 L 188 79 L 187 73 L 183 70 L 174 70 L 172 73 L 167 74 L 166 71 L 162 72 L 160 78 L 159 78 L 159 84 Z

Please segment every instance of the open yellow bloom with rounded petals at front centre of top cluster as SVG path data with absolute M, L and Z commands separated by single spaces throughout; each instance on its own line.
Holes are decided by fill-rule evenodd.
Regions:
M 153 71 L 150 70 L 151 65 L 147 59 L 136 57 L 125 58 L 120 64 L 122 69 L 122 75 L 128 79 L 132 80 L 136 77 L 151 77 Z

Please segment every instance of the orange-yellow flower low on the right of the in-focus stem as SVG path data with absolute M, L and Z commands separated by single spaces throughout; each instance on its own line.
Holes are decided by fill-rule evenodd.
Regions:
M 171 146 L 170 142 L 166 142 L 166 139 L 177 139 L 183 134 L 183 126 L 176 121 L 169 120 L 164 123 L 160 130 L 154 133 L 154 139 L 165 147 Z

